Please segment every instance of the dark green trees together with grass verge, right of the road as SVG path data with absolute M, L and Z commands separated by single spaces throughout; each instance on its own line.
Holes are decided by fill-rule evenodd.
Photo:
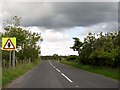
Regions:
M 62 63 L 120 80 L 120 31 L 102 32 L 98 35 L 89 33 L 84 42 L 75 37 L 73 47 L 78 56 L 67 56 Z

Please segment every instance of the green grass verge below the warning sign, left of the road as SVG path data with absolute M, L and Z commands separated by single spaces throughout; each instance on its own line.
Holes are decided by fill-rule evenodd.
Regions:
M 5 87 L 7 84 L 15 80 L 16 78 L 23 75 L 25 72 L 31 70 L 40 61 L 30 64 L 18 64 L 16 68 L 6 68 L 2 70 L 2 86 Z

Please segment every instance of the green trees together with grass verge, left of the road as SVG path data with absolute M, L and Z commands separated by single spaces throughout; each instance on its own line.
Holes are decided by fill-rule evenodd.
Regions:
M 2 37 L 15 37 L 17 42 L 15 51 L 15 68 L 11 68 L 11 66 L 13 66 L 13 62 L 9 61 L 10 51 L 2 51 L 3 86 L 18 78 L 20 75 L 24 74 L 40 62 L 39 55 L 41 52 L 37 42 L 42 41 L 43 39 L 40 34 L 32 33 L 27 29 L 20 27 L 20 21 L 21 17 L 12 17 L 9 21 L 7 21 L 4 27 L 5 33 L 2 34 Z

